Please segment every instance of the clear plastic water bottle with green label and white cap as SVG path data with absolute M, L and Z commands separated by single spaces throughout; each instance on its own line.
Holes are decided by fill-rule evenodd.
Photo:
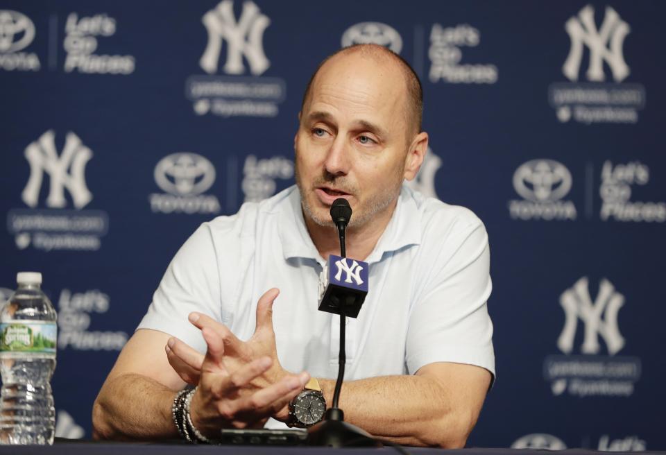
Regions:
M 41 273 L 21 272 L 17 283 L 0 310 L 0 444 L 53 444 L 56 310 Z

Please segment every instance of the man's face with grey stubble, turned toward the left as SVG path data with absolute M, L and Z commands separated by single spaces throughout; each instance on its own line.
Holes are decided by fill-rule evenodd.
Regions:
M 332 225 L 330 206 L 341 197 L 352 207 L 352 228 L 390 215 L 406 176 L 408 130 L 398 65 L 359 53 L 329 60 L 313 81 L 294 143 L 305 216 Z

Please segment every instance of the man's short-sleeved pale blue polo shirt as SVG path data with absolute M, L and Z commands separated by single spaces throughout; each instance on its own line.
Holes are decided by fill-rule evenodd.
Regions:
M 395 213 L 366 262 L 368 295 L 348 318 L 345 379 L 411 375 L 432 362 L 469 363 L 495 375 L 488 235 L 463 207 L 402 187 Z M 139 329 L 155 329 L 205 352 L 187 320 L 200 311 L 246 340 L 259 297 L 277 287 L 278 358 L 291 372 L 334 379 L 339 316 L 318 311 L 324 264 L 296 186 L 233 216 L 203 223 L 173 258 Z

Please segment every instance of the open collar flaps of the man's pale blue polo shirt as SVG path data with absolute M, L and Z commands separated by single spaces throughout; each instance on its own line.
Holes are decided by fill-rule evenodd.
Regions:
M 282 241 L 282 254 L 284 259 L 303 257 L 321 260 L 321 256 L 314 246 L 310 234 L 305 226 L 300 191 L 296 185 L 288 189 L 287 198 L 282 200 L 278 216 L 278 234 Z M 412 245 L 420 245 L 420 213 L 413 191 L 402 185 L 395 212 L 388 222 L 386 230 L 379 237 L 373 252 L 366 258 L 366 262 L 380 261 L 386 252 L 394 252 Z

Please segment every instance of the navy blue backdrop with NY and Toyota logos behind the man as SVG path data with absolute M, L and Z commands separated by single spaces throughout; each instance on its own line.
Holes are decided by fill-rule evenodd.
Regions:
M 486 223 L 497 383 L 470 445 L 666 449 L 658 1 L 0 1 L 0 286 L 59 312 L 58 435 L 203 221 L 293 183 L 343 45 L 420 75 L 416 187 Z M 313 296 L 313 298 L 315 298 Z

